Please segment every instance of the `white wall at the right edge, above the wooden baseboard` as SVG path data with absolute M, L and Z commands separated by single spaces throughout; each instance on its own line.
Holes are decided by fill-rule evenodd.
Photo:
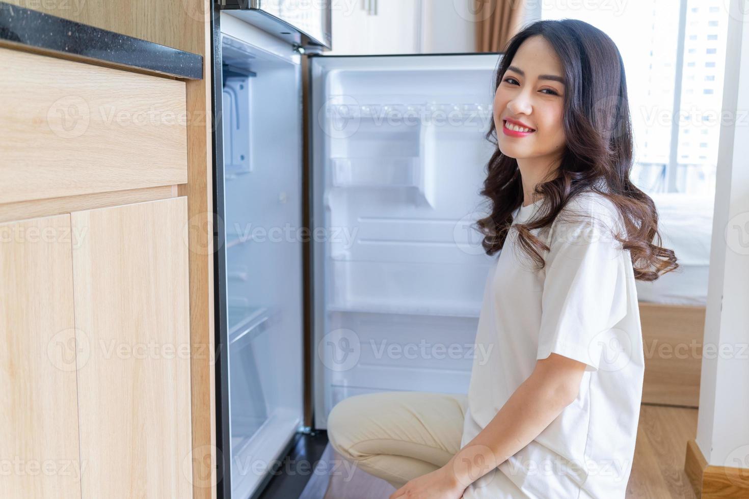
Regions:
M 705 323 L 715 355 L 703 349 L 697 444 L 709 465 L 749 468 L 749 15 L 740 4 L 730 0 Z

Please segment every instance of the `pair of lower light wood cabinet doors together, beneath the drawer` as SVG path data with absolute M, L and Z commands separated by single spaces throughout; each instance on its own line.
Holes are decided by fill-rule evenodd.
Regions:
M 186 227 L 184 197 L 0 225 L 3 497 L 192 497 Z

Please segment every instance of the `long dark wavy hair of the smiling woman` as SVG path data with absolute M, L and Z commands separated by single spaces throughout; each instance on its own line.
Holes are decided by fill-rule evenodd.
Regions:
M 548 230 L 567 203 L 580 192 L 598 192 L 612 201 L 622 215 L 625 234 L 614 233 L 622 248 L 629 250 L 634 277 L 655 281 L 659 275 L 679 267 L 673 250 L 661 248 L 658 211 L 652 199 L 631 182 L 632 130 L 624 64 L 619 49 L 603 31 L 576 19 L 533 22 L 507 43 L 495 70 L 494 91 L 521 43 L 541 35 L 562 61 L 565 78 L 562 126 L 566 147 L 552 180 L 539 182 L 536 195 L 542 200 L 536 216 L 518 230 L 518 248 L 542 269 L 542 251 L 549 247 L 531 230 Z M 488 255 L 502 249 L 512 213 L 523 203 L 523 185 L 518 161 L 505 156 L 497 143 L 492 120 L 485 138 L 497 145 L 487 165 L 481 195 L 488 198 L 490 214 L 476 224 L 484 236 Z

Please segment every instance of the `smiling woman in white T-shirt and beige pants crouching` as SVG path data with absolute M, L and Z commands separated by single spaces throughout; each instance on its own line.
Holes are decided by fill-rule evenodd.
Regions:
M 479 220 L 487 254 L 467 395 L 340 402 L 333 448 L 396 498 L 624 498 L 643 383 L 635 280 L 676 269 L 629 172 L 622 58 L 602 31 L 539 21 L 497 70 Z M 500 251 L 502 250 L 502 251 Z

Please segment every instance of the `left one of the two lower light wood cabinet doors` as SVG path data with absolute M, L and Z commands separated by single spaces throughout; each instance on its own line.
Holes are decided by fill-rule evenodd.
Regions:
M 80 498 L 70 215 L 0 224 L 0 495 Z

